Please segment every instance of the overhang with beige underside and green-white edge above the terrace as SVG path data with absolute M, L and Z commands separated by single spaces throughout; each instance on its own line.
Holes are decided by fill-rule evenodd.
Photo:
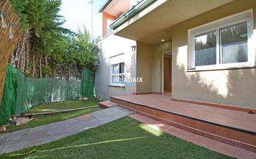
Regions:
M 148 0 L 145 2 L 149 4 L 145 4 L 145 7 L 139 9 L 137 4 L 134 10 L 130 9 L 119 17 L 111 27 L 115 35 L 156 45 L 162 39 L 171 40 L 173 25 L 232 1 L 234 0 Z

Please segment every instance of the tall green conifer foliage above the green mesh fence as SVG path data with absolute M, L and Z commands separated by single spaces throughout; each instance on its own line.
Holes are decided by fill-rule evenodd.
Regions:
M 42 72 L 42 77 L 69 79 L 79 77 L 83 67 L 94 71 L 96 45 L 91 43 L 84 26 L 77 33 L 62 27 L 65 20 L 58 14 L 61 0 L 11 0 L 11 4 L 21 18 L 24 31 L 30 32 L 29 56 L 35 57 L 35 62 L 29 58 L 27 75 L 40 77 Z

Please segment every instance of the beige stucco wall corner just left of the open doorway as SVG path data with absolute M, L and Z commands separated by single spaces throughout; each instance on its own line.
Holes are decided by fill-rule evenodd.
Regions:
M 137 93 L 162 92 L 162 53 L 171 50 L 171 41 L 158 45 L 137 42 L 137 77 L 144 82 L 137 84 Z

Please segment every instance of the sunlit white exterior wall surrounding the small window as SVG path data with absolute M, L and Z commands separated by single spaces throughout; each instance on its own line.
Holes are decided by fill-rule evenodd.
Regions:
M 134 40 L 116 35 L 109 35 L 98 43 L 99 66 L 95 74 L 96 97 L 102 95 L 103 100 L 109 100 L 111 96 L 131 95 L 136 92 L 135 82 L 124 82 L 124 87 L 109 86 L 112 56 L 123 53 L 125 77 L 136 77 L 136 51 L 132 51 L 132 46 L 136 46 Z

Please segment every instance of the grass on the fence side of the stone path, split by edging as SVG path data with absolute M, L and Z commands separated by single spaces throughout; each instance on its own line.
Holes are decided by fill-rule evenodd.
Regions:
M 74 103 L 74 105 L 72 105 L 72 103 Z M 78 106 L 81 107 L 86 107 L 86 106 L 94 106 L 94 105 L 98 105 L 98 100 L 87 100 L 87 101 L 65 101 L 62 103 L 50 103 L 48 105 L 40 105 L 40 108 L 32 108 L 33 112 L 35 113 L 40 113 L 42 111 L 40 110 L 45 110 L 46 108 L 48 110 L 69 110 L 72 108 L 78 108 Z M 2 133 L 6 133 L 6 132 L 12 132 L 12 131 L 18 131 L 21 129 L 26 129 L 26 128 L 31 128 L 31 127 L 36 127 L 36 126 L 42 126 L 45 124 L 50 124 L 53 122 L 58 122 L 58 121 L 63 121 L 66 119 L 70 119 L 70 118 L 75 118 L 76 116 L 81 116 L 83 114 L 88 114 L 91 113 L 93 111 L 98 111 L 101 110 L 101 108 L 96 107 L 96 108 L 88 108 L 85 110 L 78 110 L 78 111 L 72 111 L 69 113 L 58 113 L 58 114 L 52 114 L 52 115 L 47 115 L 47 116 L 39 116 L 35 119 L 33 119 L 32 121 L 30 121 L 28 124 L 22 124 L 21 126 L 15 126 L 14 124 L 11 124 L 11 126 L 7 127 L 6 131 L 2 131 L 0 132 L 0 134 Z

